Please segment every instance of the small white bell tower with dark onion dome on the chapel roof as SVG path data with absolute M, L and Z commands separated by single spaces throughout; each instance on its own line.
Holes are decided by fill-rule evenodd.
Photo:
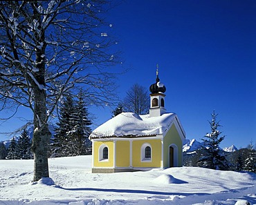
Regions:
M 165 94 L 166 88 L 161 83 L 158 77 L 158 65 L 156 65 L 156 83 L 149 87 L 150 94 L 150 109 L 149 117 L 158 117 L 166 113 L 165 110 Z

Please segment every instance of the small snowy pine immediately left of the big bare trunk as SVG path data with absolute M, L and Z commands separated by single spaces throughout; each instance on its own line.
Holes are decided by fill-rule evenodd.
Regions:
M 32 159 L 30 149 L 31 143 L 30 138 L 28 137 L 28 131 L 24 129 L 17 142 L 17 157 L 19 159 Z

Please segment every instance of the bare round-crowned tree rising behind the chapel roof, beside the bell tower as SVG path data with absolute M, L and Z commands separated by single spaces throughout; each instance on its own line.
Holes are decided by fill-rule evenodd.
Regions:
M 133 112 L 138 115 L 149 113 L 150 100 L 147 88 L 134 84 L 127 91 L 127 96 L 123 102 L 125 111 Z

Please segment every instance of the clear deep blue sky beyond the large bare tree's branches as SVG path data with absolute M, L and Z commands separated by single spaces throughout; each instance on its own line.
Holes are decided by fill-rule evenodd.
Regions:
M 109 12 L 122 51 L 122 99 L 138 83 L 165 84 L 165 106 L 176 113 L 188 139 L 210 132 L 213 110 L 226 138 L 238 148 L 256 141 L 256 1 L 129 0 Z M 102 124 L 111 108 L 90 108 Z M 24 113 L 21 112 L 24 116 Z M 30 118 L 32 115 L 28 115 Z M 0 132 L 23 124 L 15 116 Z M 32 119 L 32 117 L 30 118 Z M 0 136 L 0 140 L 6 139 Z

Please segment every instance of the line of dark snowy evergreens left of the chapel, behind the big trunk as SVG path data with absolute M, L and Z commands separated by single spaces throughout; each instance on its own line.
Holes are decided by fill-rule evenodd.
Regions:
M 62 100 L 59 121 L 56 123 L 55 135 L 51 138 L 48 157 L 68 157 L 91 154 L 91 119 L 84 104 L 82 90 L 73 99 L 66 96 Z M 31 142 L 27 130 L 23 130 L 18 140 L 12 137 L 6 149 L 0 143 L 0 159 L 33 159 L 30 151 Z

